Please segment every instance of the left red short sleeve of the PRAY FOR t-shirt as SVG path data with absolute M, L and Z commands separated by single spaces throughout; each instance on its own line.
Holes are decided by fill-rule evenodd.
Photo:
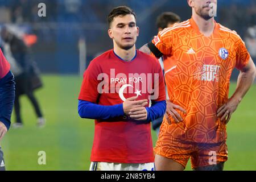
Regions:
M 100 68 L 97 61 L 91 61 L 88 68 L 84 72 L 84 79 L 79 94 L 79 100 L 96 103 L 99 92 L 97 90 L 99 81 L 97 80 L 100 74 Z

